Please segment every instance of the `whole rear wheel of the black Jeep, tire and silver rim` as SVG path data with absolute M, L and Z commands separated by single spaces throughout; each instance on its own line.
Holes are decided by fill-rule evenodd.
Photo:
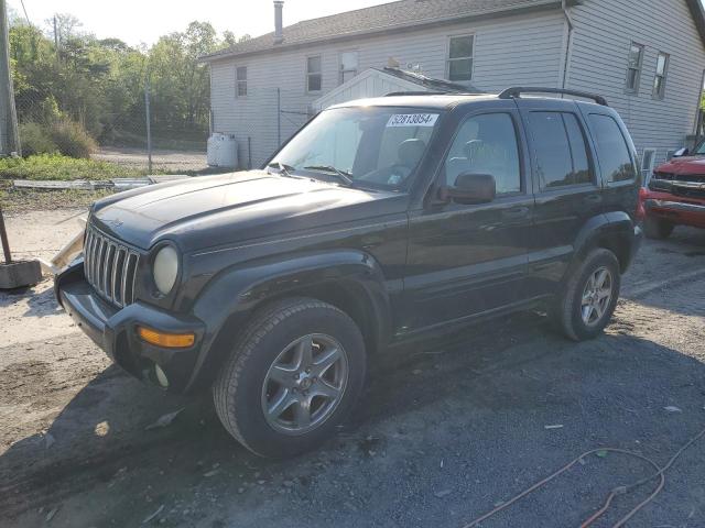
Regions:
M 556 300 L 554 322 L 574 341 L 597 337 L 615 312 L 620 284 L 615 254 L 605 249 L 592 251 L 573 271 Z

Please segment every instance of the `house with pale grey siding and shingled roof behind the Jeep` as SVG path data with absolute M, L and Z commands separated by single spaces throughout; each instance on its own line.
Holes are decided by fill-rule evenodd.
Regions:
M 468 91 L 600 94 L 627 123 L 646 172 L 697 127 L 699 0 L 400 0 L 290 26 L 283 3 L 274 1 L 272 33 L 203 57 L 212 129 L 236 138 L 241 167 L 264 163 L 327 95 L 389 66 Z M 367 96 L 383 95 L 383 82 L 365 86 Z

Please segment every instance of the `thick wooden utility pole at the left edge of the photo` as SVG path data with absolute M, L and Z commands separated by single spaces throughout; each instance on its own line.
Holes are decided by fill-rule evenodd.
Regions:
M 9 31 L 8 7 L 6 0 L 0 0 L 0 154 L 17 152 L 22 155 L 10 72 Z

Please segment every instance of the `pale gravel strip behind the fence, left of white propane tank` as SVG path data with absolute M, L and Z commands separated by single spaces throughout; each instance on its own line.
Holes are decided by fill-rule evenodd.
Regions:
M 144 148 L 101 147 L 93 157 L 104 162 L 137 167 L 147 167 L 148 164 Z M 154 150 L 152 152 L 152 167 L 154 170 L 198 172 L 207 169 L 208 165 L 206 164 L 205 152 Z

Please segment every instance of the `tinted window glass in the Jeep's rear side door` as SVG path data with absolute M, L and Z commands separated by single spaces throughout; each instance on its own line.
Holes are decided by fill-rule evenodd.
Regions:
M 529 127 L 542 189 L 593 182 L 585 135 L 574 114 L 531 112 Z

